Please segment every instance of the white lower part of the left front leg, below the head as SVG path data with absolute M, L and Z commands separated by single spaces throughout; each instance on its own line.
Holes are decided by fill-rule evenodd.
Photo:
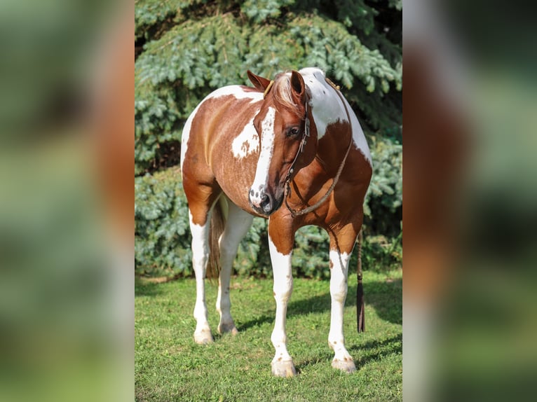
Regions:
M 274 299 L 276 300 L 276 319 L 271 341 L 276 349 L 272 360 L 272 373 L 278 377 L 292 377 L 297 374 L 292 358 L 287 352 L 287 335 L 285 334 L 285 321 L 287 303 L 293 291 L 293 277 L 291 271 L 292 254 L 285 256 L 276 249 L 269 236 L 269 249 L 271 251 L 272 271 L 274 276 Z

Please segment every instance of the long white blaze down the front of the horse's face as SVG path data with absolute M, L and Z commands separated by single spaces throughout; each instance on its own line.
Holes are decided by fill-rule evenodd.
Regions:
M 262 191 L 266 187 L 266 181 L 269 176 L 269 167 L 271 165 L 272 155 L 274 152 L 274 118 L 276 109 L 269 107 L 266 116 L 261 122 L 261 151 L 257 161 L 254 183 L 252 183 L 250 200 L 252 204 L 261 203 Z

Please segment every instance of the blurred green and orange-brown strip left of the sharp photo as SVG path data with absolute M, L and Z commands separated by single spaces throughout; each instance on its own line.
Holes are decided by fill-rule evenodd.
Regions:
M 132 400 L 126 1 L 0 2 L 0 400 Z

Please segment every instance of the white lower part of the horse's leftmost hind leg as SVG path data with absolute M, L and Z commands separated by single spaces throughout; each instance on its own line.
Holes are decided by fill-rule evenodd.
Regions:
M 196 225 L 196 223 L 192 222 L 190 211 L 189 220 L 192 233 L 192 265 L 196 274 L 194 318 L 197 324 L 196 331 L 194 331 L 194 340 L 196 343 L 205 344 L 212 342 L 211 329 L 207 320 L 207 306 L 205 305 L 205 272 L 209 258 L 210 214 L 204 226 Z

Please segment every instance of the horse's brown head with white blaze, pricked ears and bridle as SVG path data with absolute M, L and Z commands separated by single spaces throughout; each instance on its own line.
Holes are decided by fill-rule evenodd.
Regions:
M 248 71 L 248 78 L 265 94 L 254 118 L 261 146 L 249 199 L 257 213 L 268 216 L 282 205 L 285 183 L 315 157 L 317 135 L 308 90 L 297 71 L 278 74 L 274 81 Z

